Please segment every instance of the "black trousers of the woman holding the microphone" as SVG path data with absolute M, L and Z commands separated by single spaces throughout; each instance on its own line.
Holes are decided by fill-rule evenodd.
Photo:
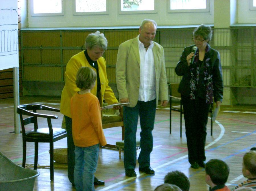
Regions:
M 181 100 L 184 109 L 189 163 L 205 161 L 204 147 L 210 104 L 198 97 L 192 100 L 190 97 L 181 95 Z

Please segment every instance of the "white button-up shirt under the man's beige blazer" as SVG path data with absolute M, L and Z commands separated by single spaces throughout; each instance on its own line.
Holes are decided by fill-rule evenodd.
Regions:
M 140 52 L 140 89 L 139 89 L 139 101 L 151 101 L 156 98 L 155 92 L 155 65 L 152 48 L 154 43 L 151 41 L 148 50 L 144 48 L 144 44 L 139 43 Z

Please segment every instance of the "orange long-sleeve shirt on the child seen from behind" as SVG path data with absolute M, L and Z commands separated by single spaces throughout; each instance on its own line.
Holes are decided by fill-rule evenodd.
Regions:
M 71 98 L 72 135 L 75 146 L 89 147 L 107 144 L 102 123 L 99 100 L 91 93 L 76 93 Z

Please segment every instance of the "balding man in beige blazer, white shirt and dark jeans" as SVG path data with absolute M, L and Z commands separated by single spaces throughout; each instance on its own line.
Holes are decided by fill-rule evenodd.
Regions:
M 153 149 L 152 130 L 158 99 L 161 105 L 168 104 L 167 79 L 163 47 L 155 42 L 157 24 L 144 19 L 140 35 L 120 44 L 116 62 L 116 84 L 124 106 L 124 168 L 128 177 L 136 177 L 136 131 L 140 116 L 139 170 L 153 174 L 150 153 Z

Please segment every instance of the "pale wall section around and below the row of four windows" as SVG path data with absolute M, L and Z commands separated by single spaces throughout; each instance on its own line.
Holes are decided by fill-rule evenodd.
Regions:
M 31 16 L 28 0 L 28 27 L 98 27 L 136 26 L 145 18 L 153 19 L 158 25 L 213 24 L 213 0 L 209 12 L 168 13 L 168 0 L 157 0 L 157 13 L 119 14 L 118 1 L 109 0 L 108 15 L 73 15 L 73 0 L 64 0 L 64 16 Z

